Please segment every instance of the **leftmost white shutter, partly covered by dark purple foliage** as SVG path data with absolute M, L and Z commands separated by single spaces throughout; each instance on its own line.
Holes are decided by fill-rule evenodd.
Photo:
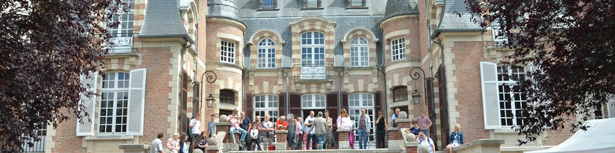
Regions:
M 81 76 L 81 85 L 87 88 L 87 84 L 90 84 L 90 88 L 87 88 L 87 91 L 91 91 L 96 93 L 96 88 L 98 84 L 98 72 L 90 73 L 90 78 L 86 78 L 85 75 Z M 88 116 L 83 116 L 83 118 L 77 119 L 77 136 L 91 136 L 94 135 L 94 122 L 95 122 L 95 113 L 96 113 L 96 96 L 92 95 L 91 98 L 88 98 L 84 94 L 81 94 L 81 100 L 79 103 L 82 103 L 85 106 L 84 112 L 87 112 Z M 83 123 L 81 123 L 81 121 Z

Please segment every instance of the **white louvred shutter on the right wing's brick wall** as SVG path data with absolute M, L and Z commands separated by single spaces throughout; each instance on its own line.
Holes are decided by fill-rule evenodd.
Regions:
M 500 129 L 502 126 L 499 121 L 498 65 L 493 62 L 480 62 L 480 81 L 485 129 Z

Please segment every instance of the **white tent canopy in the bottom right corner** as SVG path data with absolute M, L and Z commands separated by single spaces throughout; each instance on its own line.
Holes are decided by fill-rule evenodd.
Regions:
M 585 121 L 584 125 L 590 126 L 587 131 L 577 130 L 573 136 L 557 146 L 525 153 L 615 152 L 615 118 Z

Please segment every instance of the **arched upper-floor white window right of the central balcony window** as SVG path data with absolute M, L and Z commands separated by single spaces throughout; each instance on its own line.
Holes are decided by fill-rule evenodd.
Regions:
M 351 40 L 350 63 L 352 67 L 367 67 L 370 65 L 369 45 L 364 38 L 356 37 Z

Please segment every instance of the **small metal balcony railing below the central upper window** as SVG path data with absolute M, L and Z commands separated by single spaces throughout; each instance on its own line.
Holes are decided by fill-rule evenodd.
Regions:
M 333 64 L 295 64 L 292 68 L 295 80 L 327 80 L 333 74 Z

